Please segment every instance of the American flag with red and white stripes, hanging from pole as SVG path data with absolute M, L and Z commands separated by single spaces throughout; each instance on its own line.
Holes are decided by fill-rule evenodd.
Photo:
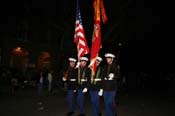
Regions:
M 89 47 L 86 42 L 86 37 L 84 33 L 83 23 L 80 14 L 79 0 L 77 0 L 77 9 L 76 9 L 76 22 L 75 22 L 75 34 L 74 42 L 77 45 L 78 58 L 89 53 Z

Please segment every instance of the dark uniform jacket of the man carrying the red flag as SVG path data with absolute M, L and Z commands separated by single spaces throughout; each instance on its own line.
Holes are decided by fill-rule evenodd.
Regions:
M 103 74 L 103 69 L 101 66 L 98 66 L 96 68 L 95 76 L 93 80 L 91 79 L 91 82 L 90 82 L 90 87 L 89 87 L 90 91 L 99 91 L 100 89 L 102 89 L 102 74 Z

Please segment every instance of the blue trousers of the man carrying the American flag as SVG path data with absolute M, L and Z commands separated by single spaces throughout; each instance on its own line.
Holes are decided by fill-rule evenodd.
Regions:
M 84 114 L 84 93 L 83 90 L 78 90 L 77 104 L 80 110 L 80 114 Z

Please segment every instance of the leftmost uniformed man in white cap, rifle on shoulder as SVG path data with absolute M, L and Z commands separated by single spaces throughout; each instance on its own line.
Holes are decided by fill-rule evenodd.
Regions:
M 69 67 L 63 76 L 63 81 L 67 83 L 67 103 L 68 103 L 68 114 L 67 116 L 72 116 L 74 114 L 74 93 L 77 87 L 77 71 L 75 69 L 76 59 L 69 58 Z

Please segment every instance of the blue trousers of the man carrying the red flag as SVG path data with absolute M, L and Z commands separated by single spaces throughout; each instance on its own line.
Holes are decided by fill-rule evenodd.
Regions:
M 91 103 L 93 108 L 93 116 L 99 116 L 99 95 L 98 91 L 90 91 Z

